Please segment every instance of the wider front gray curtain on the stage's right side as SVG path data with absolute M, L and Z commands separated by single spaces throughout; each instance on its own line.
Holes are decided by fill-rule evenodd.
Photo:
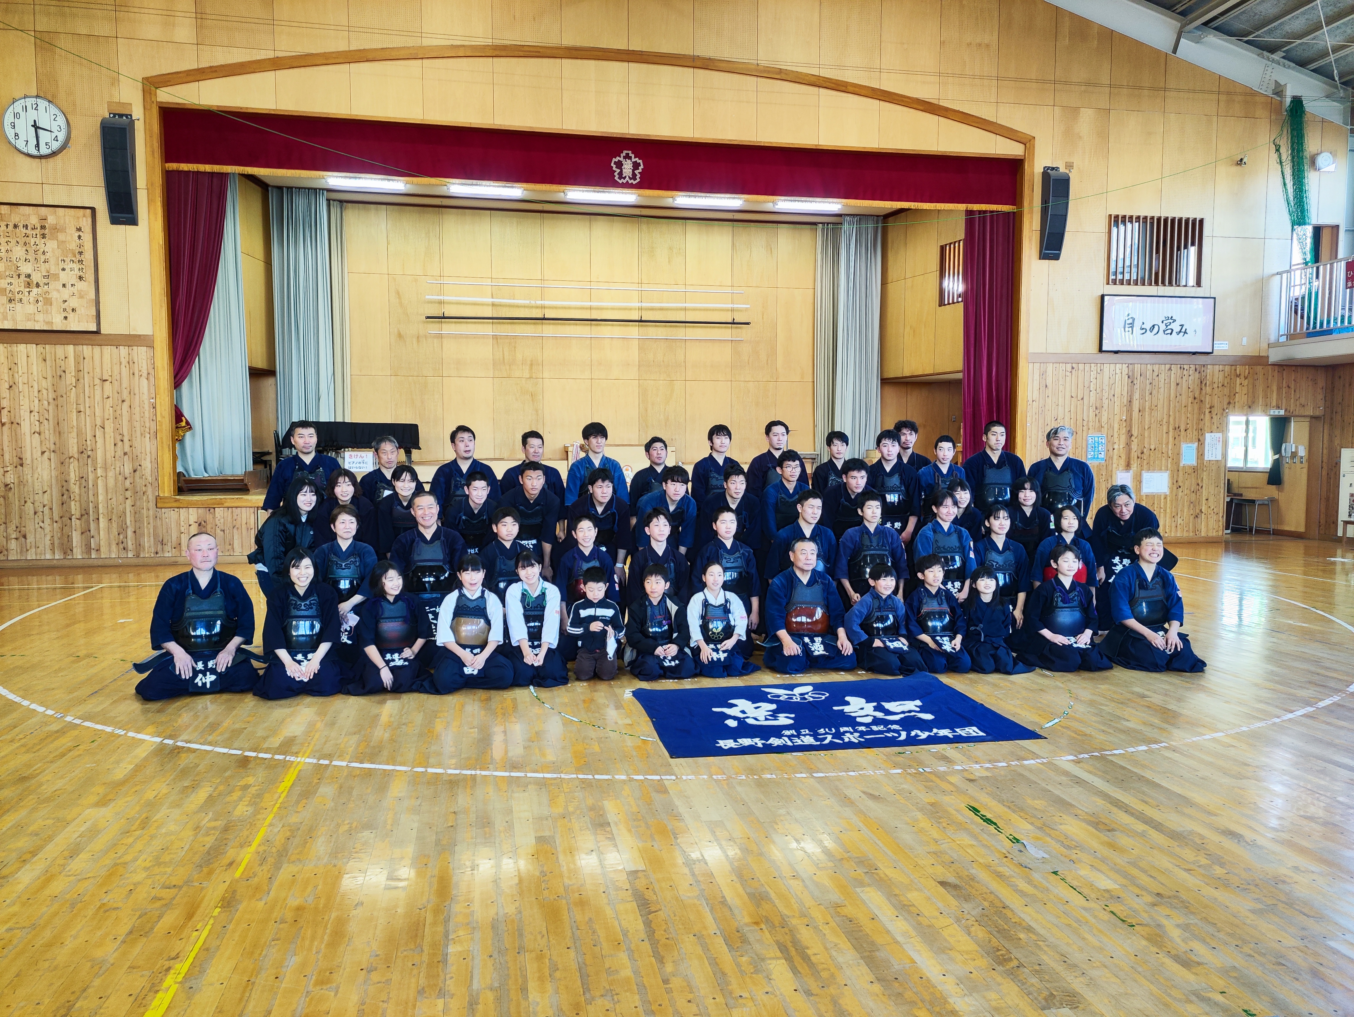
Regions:
M 844 215 L 837 280 L 837 376 L 833 429 L 864 455 L 879 433 L 880 217 Z

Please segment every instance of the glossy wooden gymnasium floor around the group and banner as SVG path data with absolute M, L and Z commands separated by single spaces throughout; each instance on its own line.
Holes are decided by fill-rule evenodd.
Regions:
M 0 573 L 0 1012 L 1351 1014 L 1354 561 L 1177 550 L 1204 676 L 678 761 L 628 678 L 141 703 L 177 569 Z

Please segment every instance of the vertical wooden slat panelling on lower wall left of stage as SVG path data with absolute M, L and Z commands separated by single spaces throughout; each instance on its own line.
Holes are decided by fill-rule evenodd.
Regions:
M 0 559 L 179 558 L 199 528 L 253 548 L 255 509 L 157 509 L 146 347 L 0 345 Z

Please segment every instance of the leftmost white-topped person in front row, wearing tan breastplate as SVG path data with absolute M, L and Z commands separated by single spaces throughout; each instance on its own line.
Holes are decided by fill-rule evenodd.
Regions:
M 485 566 L 477 554 L 456 562 L 460 581 L 437 611 L 439 654 L 432 674 L 414 683 L 414 692 L 445 696 L 463 688 L 508 688 L 513 672 L 505 654 L 504 605 L 485 589 Z

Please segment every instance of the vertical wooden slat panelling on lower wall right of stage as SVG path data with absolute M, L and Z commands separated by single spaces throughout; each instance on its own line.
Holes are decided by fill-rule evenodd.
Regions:
M 1220 536 L 1225 508 L 1225 462 L 1204 460 L 1204 435 L 1227 432 L 1228 413 L 1323 416 L 1324 367 L 1194 367 L 1190 364 L 1030 364 L 1029 435 L 1018 450 L 1026 463 L 1048 455 L 1043 435 L 1055 424 L 1076 431 L 1072 455 L 1085 458 L 1086 436 L 1105 435 L 1106 462 L 1093 463 L 1095 505 L 1118 470 L 1169 470 L 1170 494 L 1141 496 L 1167 535 Z M 1354 371 L 1340 368 L 1354 383 Z M 1354 391 L 1346 386 L 1346 391 Z M 1354 424 L 1354 399 L 1346 395 Z M 1346 432 L 1350 431 L 1346 424 Z M 1350 439 L 1343 439 L 1350 444 Z M 1181 444 L 1198 443 L 1198 464 L 1181 466 Z M 1332 444 L 1339 444 L 1339 439 Z M 1336 459 L 1339 452 L 1335 452 Z M 1338 464 L 1338 463 L 1336 463 Z M 1330 466 L 1327 466 L 1330 473 Z M 1334 504 L 1334 497 L 1327 501 Z M 1323 513 L 1324 515 L 1324 513 Z

